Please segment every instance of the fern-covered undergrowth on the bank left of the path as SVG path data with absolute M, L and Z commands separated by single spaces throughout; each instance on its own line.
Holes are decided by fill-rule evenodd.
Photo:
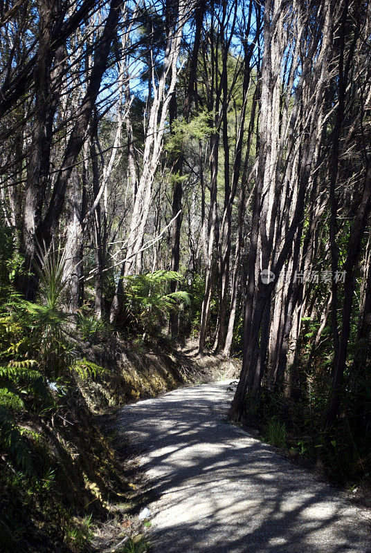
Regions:
M 12 247 L 0 257 L 0 551 L 86 551 L 93 517 L 107 517 L 108 498 L 125 494 L 78 388 L 103 369 L 70 339 L 64 252 L 39 253 L 37 303 L 15 290 L 22 269 Z

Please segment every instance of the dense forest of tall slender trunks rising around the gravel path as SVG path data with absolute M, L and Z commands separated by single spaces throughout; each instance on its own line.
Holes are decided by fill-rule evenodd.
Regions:
M 242 359 L 230 421 L 367 487 L 368 0 L 0 0 L 0 32 L 1 551 L 114 337 Z

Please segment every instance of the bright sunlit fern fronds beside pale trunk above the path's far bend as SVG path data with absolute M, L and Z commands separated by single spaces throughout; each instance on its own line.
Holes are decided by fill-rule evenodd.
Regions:
M 167 292 L 170 282 L 183 283 L 184 279 L 178 272 L 158 270 L 134 274 L 126 277 L 126 281 L 127 310 L 136 326 L 148 334 L 159 332 L 171 311 L 179 311 L 190 303 L 188 292 Z

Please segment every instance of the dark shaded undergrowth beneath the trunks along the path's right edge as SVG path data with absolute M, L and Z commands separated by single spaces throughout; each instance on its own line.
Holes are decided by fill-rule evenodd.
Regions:
M 367 370 L 363 368 L 361 382 Z M 360 391 L 361 386 L 357 387 Z M 365 388 L 364 388 L 365 389 Z M 247 398 L 248 412 L 266 442 L 286 449 L 293 458 L 302 459 L 325 470 L 330 480 L 352 486 L 356 482 L 369 487 L 370 413 L 359 411 L 352 389 L 343 391 L 343 412 L 336 424 L 325 433 L 325 417 L 331 385 L 326 371 L 316 371 L 311 378 L 311 393 L 271 391 L 262 387 L 258 397 Z M 363 406 L 371 405 L 363 402 Z M 364 431 L 360 431 L 364 428 Z

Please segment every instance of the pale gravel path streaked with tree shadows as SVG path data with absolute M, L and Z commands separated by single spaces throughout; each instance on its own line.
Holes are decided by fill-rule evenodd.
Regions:
M 224 421 L 228 382 L 125 406 L 154 493 L 154 553 L 371 553 L 370 514 Z

